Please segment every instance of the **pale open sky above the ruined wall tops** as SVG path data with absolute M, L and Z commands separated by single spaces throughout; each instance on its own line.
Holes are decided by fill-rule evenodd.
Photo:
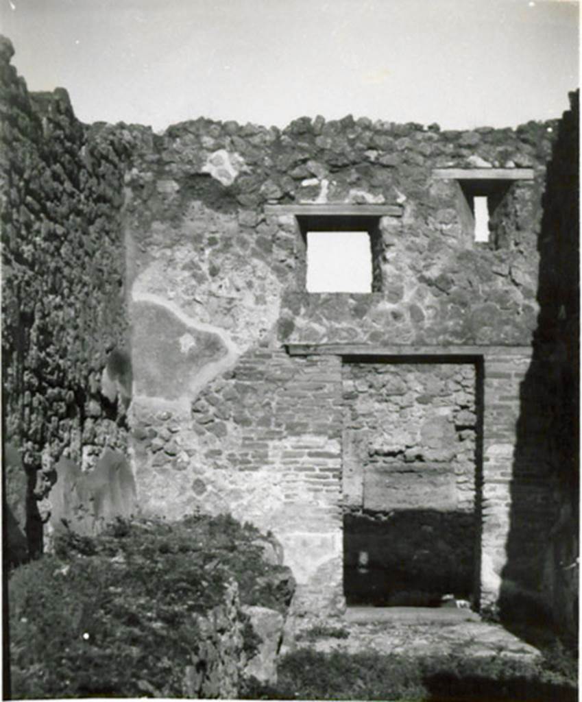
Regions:
M 578 86 L 568 0 L 0 0 L 29 90 L 85 122 L 346 114 L 516 126 Z

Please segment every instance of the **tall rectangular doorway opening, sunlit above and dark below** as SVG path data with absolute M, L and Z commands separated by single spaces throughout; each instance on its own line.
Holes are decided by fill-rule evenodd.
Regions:
M 342 381 L 348 606 L 473 606 L 480 594 L 480 359 L 345 357 Z

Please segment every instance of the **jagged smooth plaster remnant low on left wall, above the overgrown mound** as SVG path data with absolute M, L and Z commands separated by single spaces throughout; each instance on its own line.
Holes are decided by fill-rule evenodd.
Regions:
M 61 458 L 56 472 L 50 520 L 55 534 L 70 527 L 90 536 L 116 517 L 128 518 L 135 512 L 135 480 L 123 453 L 105 449 L 95 468 L 86 472 Z

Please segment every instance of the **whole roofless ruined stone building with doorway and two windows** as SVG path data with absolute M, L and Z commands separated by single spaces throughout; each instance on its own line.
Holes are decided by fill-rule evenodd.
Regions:
M 81 125 L 2 70 L 5 416 L 30 476 L 128 441 L 140 510 L 272 530 L 297 612 L 453 593 L 573 621 L 575 116 L 155 135 Z M 318 231 L 369 238 L 369 292 L 306 290 Z M 127 415 L 102 385 L 114 348 Z M 80 499 L 61 474 L 36 483 L 54 528 Z

